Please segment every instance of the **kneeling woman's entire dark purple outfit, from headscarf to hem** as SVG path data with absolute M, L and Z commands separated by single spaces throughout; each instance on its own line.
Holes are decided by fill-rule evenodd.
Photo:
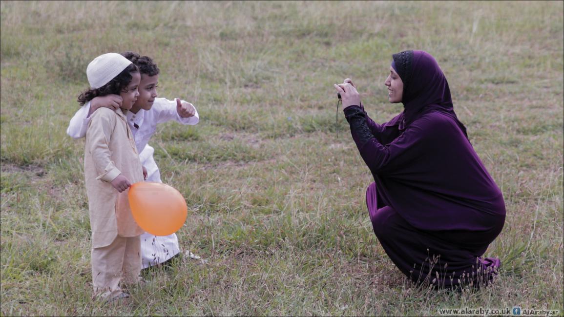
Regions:
M 503 195 L 468 141 L 433 56 L 404 51 L 394 62 L 404 82 L 401 114 L 380 125 L 362 105 L 343 110 L 374 177 L 366 193 L 374 234 L 416 283 L 479 286 L 500 265 L 481 256 L 503 228 Z

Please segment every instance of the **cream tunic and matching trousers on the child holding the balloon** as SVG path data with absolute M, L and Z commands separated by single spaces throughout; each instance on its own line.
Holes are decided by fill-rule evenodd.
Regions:
M 143 233 L 131 215 L 127 190 L 120 194 L 111 185 L 120 174 L 131 184 L 143 181 L 135 141 L 121 109 L 100 108 L 91 115 L 84 172 L 92 230 L 94 292 L 111 298 L 121 293 L 118 284 L 122 273 L 126 282 L 138 279 L 139 235 Z

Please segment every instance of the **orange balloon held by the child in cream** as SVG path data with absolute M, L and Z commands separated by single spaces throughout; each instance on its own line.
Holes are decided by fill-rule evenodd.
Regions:
M 135 222 L 150 234 L 173 234 L 188 216 L 182 194 L 166 184 L 138 182 L 129 187 L 127 197 Z

